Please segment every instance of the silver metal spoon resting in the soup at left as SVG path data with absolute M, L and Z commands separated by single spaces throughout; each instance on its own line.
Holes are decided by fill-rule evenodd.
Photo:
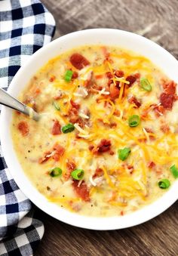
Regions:
M 21 103 L 16 98 L 12 97 L 2 88 L 0 88 L 0 104 L 11 107 L 11 109 L 15 109 L 27 116 L 32 117 L 35 121 L 38 121 L 39 114 L 35 112 L 31 107 L 26 106 L 25 104 Z

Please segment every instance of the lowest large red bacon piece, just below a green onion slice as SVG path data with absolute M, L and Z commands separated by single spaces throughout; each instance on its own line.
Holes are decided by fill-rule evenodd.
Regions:
M 81 182 L 80 180 L 73 180 L 72 187 L 75 193 L 85 202 L 90 201 L 89 197 L 89 190 L 87 188 L 87 184 L 84 181 L 81 182 L 80 187 L 78 187 L 78 183 Z

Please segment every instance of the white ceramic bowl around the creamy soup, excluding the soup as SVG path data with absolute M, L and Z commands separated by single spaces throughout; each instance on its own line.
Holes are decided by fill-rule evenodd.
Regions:
M 88 29 L 64 35 L 38 50 L 17 72 L 17 75 L 14 77 L 10 87 L 8 88 L 8 92 L 14 97 L 17 97 L 20 94 L 20 91 L 22 91 L 24 86 L 29 82 L 29 79 L 48 60 L 61 54 L 63 51 L 69 50 L 70 48 L 75 48 L 79 45 L 92 44 L 116 45 L 121 48 L 136 51 L 138 54 L 143 54 L 152 60 L 155 65 L 159 66 L 163 72 L 170 77 L 170 79 L 178 82 L 178 62 L 171 54 L 164 50 L 164 48 L 161 48 L 161 46 L 131 32 L 125 32 L 117 29 Z M 125 216 L 85 217 L 66 211 L 54 203 L 48 202 L 48 200 L 35 189 L 23 173 L 23 169 L 17 160 L 11 140 L 11 119 L 11 109 L 2 107 L 0 132 L 2 152 L 5 156 L 8 168 L 23 193 L 35 205 L 37 205 L 38 208 L 41 208 L 42 211 L 45 211 L 60 221 L 92 230 L 115 230 L 132 227 L 145 221 L 149 221 L 152 217 L 161 214 L 161 212 L 169 208 L 170 205 L 178 199 L 177 180 L 170 187 L 170 190 L 168 190 L 167 193 L 164 193 L 164 196 L 160 199 L 153 202 L 151 205 Z

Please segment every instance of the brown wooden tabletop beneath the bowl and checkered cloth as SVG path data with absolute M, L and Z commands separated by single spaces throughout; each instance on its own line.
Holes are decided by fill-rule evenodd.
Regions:
M 178 58 L 177 0 L 43 0 L 54 14 L 55 38 L 108 27 L 140 33 Z M 178 72 L 177 72 L 178 74 Z M 36 255 L 178 255 L 178 202 L 152 221 L 115 231 L 71 227 L 36 210 L 44 238 Z

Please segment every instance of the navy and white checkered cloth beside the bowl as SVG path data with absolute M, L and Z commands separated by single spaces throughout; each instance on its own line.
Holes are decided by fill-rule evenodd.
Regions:
M 2 88 L 8 88 L 29 55 L 51 41 L 54 30 L 54 17 L 38 0 L 0 1 Z M 33 254 L 44 226 L 32 216 L 32 203 L 11 177 L 0 145 L 0 255 Z

